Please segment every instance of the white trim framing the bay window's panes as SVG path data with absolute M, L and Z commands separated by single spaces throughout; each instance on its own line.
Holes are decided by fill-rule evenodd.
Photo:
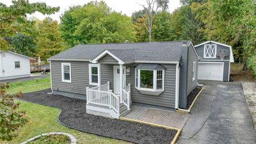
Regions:
M 138 76 L 136 74 L 136 70 L 138 70 Z M 150 91 L 150 92 L 163 92 L 164 91 L 164 70 L 163 70 L 163 73 L 162 73 L 162 89 L 157 89 L 157 70 L 152 70 L 154 71 L 154 74 L 153 74 L 153 88 L 141 88 L 140 87 L 140 70 L 150 70 L 150 69 L 140 69 L 140 68 L 136 68 L 135 69 L 135 83 L 136 83 L 136 77 L 138 77 L 138 86 L 135 88 L 137 90 L 144 90 L 144 91 Z

